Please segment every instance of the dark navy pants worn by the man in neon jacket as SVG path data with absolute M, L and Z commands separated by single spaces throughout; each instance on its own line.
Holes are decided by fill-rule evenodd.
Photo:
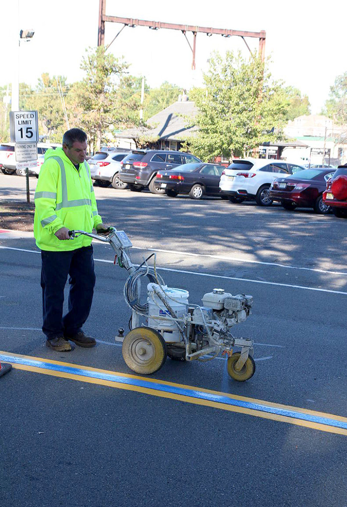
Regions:
M 48 339 L 73 336 L 88 318 L 94 293 L 93 247 L 71 251 L 42 250 L 41 287 L 44 323 Z M 63 317 L 64 287 L 69 276 L 68 312 Z

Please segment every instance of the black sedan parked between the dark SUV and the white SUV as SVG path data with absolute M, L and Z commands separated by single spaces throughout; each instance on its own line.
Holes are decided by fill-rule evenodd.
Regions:
M 184 164 L 170 171 L 158 171 L 156 185 L 165 189 L 166 195 L 176 197 L 189 194 L 191 199 L 204 195 L 218 195 L 220 175 L 224 167 L 204 162 Z

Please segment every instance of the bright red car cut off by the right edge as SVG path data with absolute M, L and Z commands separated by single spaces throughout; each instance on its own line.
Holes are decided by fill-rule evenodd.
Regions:
M 323 202 L 331 207 L 335 216 L 347 218 L 347 164 L 339 165 L 328 180 Z

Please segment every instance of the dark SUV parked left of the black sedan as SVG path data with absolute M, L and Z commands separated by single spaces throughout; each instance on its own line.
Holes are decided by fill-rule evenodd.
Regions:
M 189 162 L 201 160 L 189 153 L 171 150 L 135 150 L 121 162 L 120 179 L 134 192 L 148 187 L 152 194 L 165 194 L 165 189 L 155 183 L 157 172 Z

